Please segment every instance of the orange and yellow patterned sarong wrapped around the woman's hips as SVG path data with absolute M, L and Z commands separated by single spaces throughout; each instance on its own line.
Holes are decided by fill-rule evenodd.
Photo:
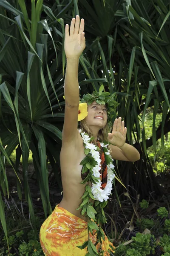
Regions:
M 95 244 L 96 235 L 90 233 L 90 238 Z M 59 204 L 40 229 L 40 244 L 45 256 L 85 256 L 87 248 L 81 250 L 76 246 L 82 245 L 87 240 L 88 223 L 59 207 Z M 109 245 L 114 248 L 105 236 L 105 241 L 102 241 L 104 256 L 110 255 L 108 250 L 113 252 Z

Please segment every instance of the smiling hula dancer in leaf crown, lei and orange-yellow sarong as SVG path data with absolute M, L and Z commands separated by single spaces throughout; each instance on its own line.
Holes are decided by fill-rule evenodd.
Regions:
M 85 97 L 87 102 L 88 99 L 90 99 L 91 102 L 88 102 L 87 112 L 86 110 L 84 111 L 86 112 L 85 118 L 80 121 L 81 130 L 77 129 L 78 115 L 81 112 L 79 111 L 78 65 L 79 57 L 85 49 L 85 33 L 83 31 L 84 20 L 81 19 L 81 23 L 79 24 L 78 15 L 76 19 L 72 19 L 70 31 L 68 24 L 65 26 L 65 54 L 67 58 L 65 74 L 65 119 L 62 131 L 62 149 L 60 153 L 63 198 L 55 207 L 52 214 L 42 224 L 40 230 L 40 242 L 46 256 L 85 256 L 87 248 L 87 255 L 96 255 L 93 244 L 95 244 L 98 253 L 100 249 L 100 251 L 103 252 L 101 255 L 109 255 L 108 250 L 110 244 L 107 237 L 103 234 L 102 230 L 100 230 L 102 240 L 96 237 L 96 233 L 88 233 L 88 228 L 93 222 L 89 222 L 89 225 L 87 222 L 88 216 L 94 216 L 94 213 L 92 214 L 92 212 L 90 212 L 90 209 L 94 211 L 94 201 L 104 202 L 107 200 L 108 194 L 111 194 L 107 183 L 111 186 L 114 176 L 111 174 L 111 171 L 109 171 L 110 178 L 107 178 L 107 167 L 109 170 L 114 166 L 111 162 L 106 164 L 105 157 L 111 154 L 111 158 L 115 160 L 137 161 L 140 159 L 139 152 L 133 146 L 125 143 L 127 129 L 124 127 L 124 121 L 121 122 L 121 117 L 115 120 L 112 133 L 108 133 L 107 106 L 106 104 L 101 104 L 99 97 L 96 96 L 95 98 L 95 95 L 93 95 L 93 97 L 91 96 L 91 99 L 94 99 L 93 102 L 89 98 L 90 96 L 88 98 Z M 103 99 L 109 97 L 108 94 L 105 93 Z M 86 134 L 83 133 L 84 131 Z M 89 140 L 92 136 L 93 143 Z M 99 141 L 102 142 L 102 140 L 105 139 L 110 143 L 110 151 L 107 151 L 107 145 L 99 143 Z M 103 157 L 97 150 L 96 145 L 98 145 L 101 150 L 102 146 L 104 147 L 104 150 L 102 150 Z M 83 167 L 82 160 L 85 159 L 85 157 L 86 160 L 94 160 L 91 162 L 90 167 L 85 162 Z M 108 159 L 112 160 L 111 158 L 107 157 L 107 161 Z M 82 173 L 82 167 L 86 171 L 84 174 Z M 88 187 L 86 186 L 87 182 L 81 184 L 82 180 L 85 180 L 83 175 L 87 177 L 87 173 L 89 173 L 89 175 L 90 173 L 94 174 L 95 168 L 98 168 L 96 169 L 96 176 L 91 176 L 91 180 L 101 177 L 101 186 L 95 187 L 98 183 L 95 184 L 94 182 L 93 187 L 91 187 L 92 183 L 89 182 L 89 180 Z M 101 170 L 104 170 L 106 173 L 104 177 L 105 182 L 102 180 Z M 108 190 L 105 189 L 106 187 Z M 88 200 L 88 193 L 91 195 L 91 198 L 95 200 Z M 82 207 L 87 207 L 80 207 L 81 209 L 77 210 L 79 205 L 82 204 L 82 195 L 86 195 L 84 198 L 88 200 L 86 204 L 83 203 L 84 205 Z M 82 209 L 84 213 L 88 212 L 88 214 L 82 215 Z M 93 219 L 95 218 L 93 217 Z M 97 224 L 99 226 L 99 221 Z M 91 227 L 93 227 L 93 225 Z M 98 230 L 97 227 L 96 230 Z M 81 246 L 87 240 L 88 242 L 84 244 L 84 249 L 81 250 L 77 247 Z M 97 244 L 97 240 L 102 241 L 101 248 L 99 244 Z

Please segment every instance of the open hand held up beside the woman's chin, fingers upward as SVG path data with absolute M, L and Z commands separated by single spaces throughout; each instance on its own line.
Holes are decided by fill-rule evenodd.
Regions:
M 115 119 L 113 123 L 113 130 L 112 132 L 108 133 L 108 141 L 116 145 L 118 147 L 122 147 L 125 144 L 126 141 L 126 133 L 127 133 L 127 128 L 125 126 L 125 122 L 122 121 L 122 118 L 119 117 L 119 119 Z

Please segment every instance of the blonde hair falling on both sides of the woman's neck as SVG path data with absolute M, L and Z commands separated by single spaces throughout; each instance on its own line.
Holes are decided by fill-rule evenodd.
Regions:
M 87 133 L 90 137 L 93 137 L 92 131 L 89 128 L 88 123 L 85 121 L 85 119 L 83 119 L 82 121 L 79 122 L 79 128 L 82 129 L 82 131 L 85 131 L 85 133 Z M 109 132 L 110 132 L 110 128 L 107 123 L 104 128 L 99 130 L 99 133 L 97 136 L 99 138 L 99 141 L 100 142 L 108 141 L 108 133 Z M 92 142 L 96 145 L 95 140 L 92 140 Z

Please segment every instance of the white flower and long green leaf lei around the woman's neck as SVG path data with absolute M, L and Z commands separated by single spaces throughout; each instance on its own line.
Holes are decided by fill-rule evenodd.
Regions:
M 106 223 L 105 213 L 103 208 L 107 205 L 108 196 L 111 195 L 113 179 L 115 177 L 113 159 L 110 155 L 110 150 L 108 150 L 107 145 L 100 143 L 103 148 L 105 155 L 105 162 L 108 167 L 108 182 L 105 189 L 101 189 L 101 159 L 99 154 L 99 147 L 91 143 L 92 138 L 88 134 L 79 130 L 82 136 L 83 144 L 85 146 L 85 158 L 80 163 L 82 167 L 82 174 L 88 172 L 88 175 L 82 180 L 81 184 L 88 183 L 85 186 L 85 192 L 82 195 L 82 203 L 78 209 L 81 209 L 81 214 L 88 217 L 88 241 L 85 241 L 82 246 L 77 246 L 80 249 L 87 247 L 87 253 L 85 256 L 89 255 L 99 255 L 102 256 L 104 251 L 102 250 L 102 240 L 105 240 L 105 234 L 102 230 L 102 224 Z M 92 186 L 89 186 L 89 183 Z M 95 203 L 90 200 L 95 200 Z M 78 210 L 77 209 L 77 210 Z M 92 220 L 93 221 L 92 221 Z M 90 239 L 90 233 L 94 236 L 94 232 L 97 233 L 97 241 L 94 245 Z M 98 251 L 96 250 L 96 245 L 99 244 Z

